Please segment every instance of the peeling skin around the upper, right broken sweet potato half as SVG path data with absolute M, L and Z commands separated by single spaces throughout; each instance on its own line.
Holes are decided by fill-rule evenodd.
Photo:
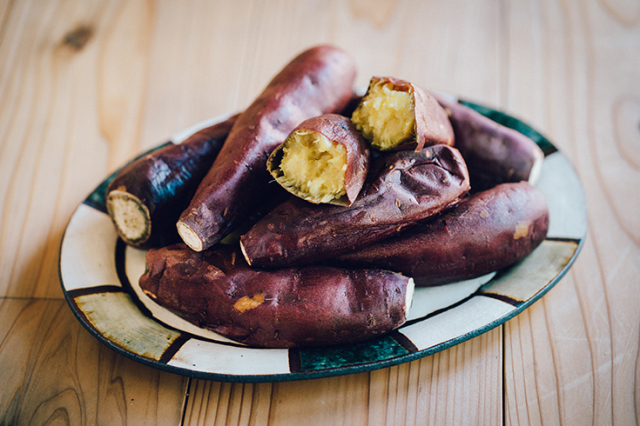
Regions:
M 380 82 L 390 83 L 394 90 L 409 93 L 414 101 L 413 108 L 416 120 L 414 127 L 415 137 L 398 145 L 393 149 L 394 151 L 405 149 L 420 151 L 425 146 L 436 144 L 454 145 L 455 134 L 451 127 L 449 117 L 435 97 L 405 80 L 394 77 L 372 77 L 364 98 L 366 98 L 371 87 Z

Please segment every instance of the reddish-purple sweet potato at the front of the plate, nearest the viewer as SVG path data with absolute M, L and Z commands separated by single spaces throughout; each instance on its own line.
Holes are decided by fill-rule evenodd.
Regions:
M 140 287 L 197 326 L 250 346 L 326 346 L 389 332 L 407 318 L 413 281 L 380 269 L 251 269 L 231 247 L 147 252 Z

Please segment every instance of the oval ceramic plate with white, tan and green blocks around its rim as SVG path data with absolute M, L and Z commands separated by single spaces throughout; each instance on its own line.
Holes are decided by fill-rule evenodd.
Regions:
M 460 101 L 535 140 L 545 153 L 537 186 L 550 211 L 546 240 L 517 265 L 478 279 L 416 290 L 410 318 L 385 336 L 352 345 L 255 349 L 202 330 L 141 294 L 144 251 L 118 239 L 102 182 L 74 212 L 60 248 L 60 281 L 78 320 L 101 342 L 143 364 L 191 377 L 266 382 L 375 370 L 457 345 L 504 323 L 567 272 L 587 230 L 582 185 L 567 158 L 522 121 Z M 175 135 L 180 143 L 217 117 Z M 159 148 L 159 147 L 158 147 Z M 155 148 L 157 149 L 157 148 Z

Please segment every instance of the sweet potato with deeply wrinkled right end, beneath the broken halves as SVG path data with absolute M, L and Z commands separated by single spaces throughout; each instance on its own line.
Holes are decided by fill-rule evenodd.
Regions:
M 447 145 L 380 157 L 349 207 L 292 197 L 266 215 L 240 244 L 250 265 L 310 263 L 387 238 L 456 204 L 469 190 L 460 153 Z

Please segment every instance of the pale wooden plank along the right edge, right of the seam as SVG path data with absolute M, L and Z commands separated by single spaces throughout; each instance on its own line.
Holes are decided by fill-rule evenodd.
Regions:
M 631 187 L 640 187 L 634 107 L 640 28 L 612 14 L 618 6 L 627 7 L 550 1 L 510 7 L 510 22 L 518 22 L 511 38 L 532 48 L 509 50 L 514 79 L 506 107 L 531 117 L 571 158 L 590 224 L 570 274 L 506 325 L 510 424 L 638 422 L 640 227 L 631 212 L 640 211 L 640 194 Z

